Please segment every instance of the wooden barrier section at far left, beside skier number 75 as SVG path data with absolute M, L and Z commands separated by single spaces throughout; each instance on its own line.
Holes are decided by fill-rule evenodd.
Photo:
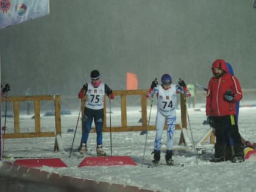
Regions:
M 35 131 L 29 133 L 20 132 L 20 102 L 34 102 L 35 113 Z M 53 132 L 41 132 L 40 125 L 40 101 L 54 101 L 55 108 L 55 128 Z M 32 137 L 55 137 L 61 135 L 61 121 L 60 121 L 60 96 L 55 95 L 41 95 L 41 96 L 9 96 L 2 97 L 2 102 L 13 102 L 13 116 L 14 116 L 14 133 L 5 133 L 5 138 L 32 138 Z M 58 149 L 57 141 L 55 140 L 54 150 Z

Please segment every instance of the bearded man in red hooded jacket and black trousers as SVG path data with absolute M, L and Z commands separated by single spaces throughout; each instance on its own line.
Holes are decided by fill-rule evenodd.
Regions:
M 210 162 L 222 162 L 225 160 L 226 133 L 229 130 L 230 137 L 234 141 L 235 155 L 232 162 L 244 161 L 244 146 L 238 131 L 236 121 L 235 103 L 243 98 L 243 92 L 239 80 L 228 73 L 226 62 L 217 59 L 212 64 L 213 77 L 207 88 L 206 115 L 213 122 L 215 128 L 215 157 Z

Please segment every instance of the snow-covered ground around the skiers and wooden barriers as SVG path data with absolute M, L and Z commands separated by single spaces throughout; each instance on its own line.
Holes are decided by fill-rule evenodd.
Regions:
M 86 166 L 78 168 L 82 158 L 77 158 L 77 147 L 81 137 L 81 123 L 77 127 L 74 140 L 73 153 L 69 156 L 71 144 L 74 138 L 74 130 L 77 123 L 79 110 L 72 111 L 71 115 L 62 115 L 62 140 L 65 152 L 54 152 L 55 138 L 22 138 L 6 139 L 4 154 L 10 161 L 14 157 L 41 158 L 58 157 L 68 165 L 68 168 L 50 168 L 43 166 L 41 169 L 49 172 L 58 172 L 60 175 L 77 176 L 84 179 L 94 179 L 110 183 L 133 185 L 143 189 L 154 191 L 256 191 L 255 187 L 255 162 L 254 158 L 243 163 L 210 163 L 208 158 L 213 156 L 212 148 L 207 148 L 206 154 L 195 155 L 192 149 L 187 151 L 174 151 L 174 162 L 184 166 L 160 165 L 149 168 L 146 163 L 152 160 L 151 152 L 154 146 L 155 132 L 148 133 L 146 154 L 143 160 L 143 151 L 146 135 L 140 132 L 112 132 L 112 155 L 129 155 L 137 166 Z M 156 108 L 152 108 L 151 122 L 155 122 Z M 188 136 L 191 140 L 193 133 L 194 143 L 199 142 L 210 130 L 208 125 L 202 124 L 205 118 L 204 104 L 197 104 L 196 108 L 189 108 Z M 239 116 L 239 128 L 242 137 L 252 143 L 256 143 L 256 107 L 241 107 Z M 34 129 L 32 115 L 21 115 L 21 130 L 29 132 Z M 113 107 L 111 118 L 112 126 L 119 123 L 119 109 Z M 109 118 L 109 117 L 108 117 Z M 2 124 L 4 118 L 2 118 Z M 130 107 L 127 111 L 127 122 L 140 124 L 140 108 Z M 180 124 L 180 110 L 177 110 L 177 123 Z M 7 132 L 12 132 L 13 118 L 7 118 Z M 30 125 L 30 126 L 29 126 Z M 54 126 L 53 116 L 41 116 L 42 131 L 49 131 Z M 191 132 L 190 132 L 191 128 Z M 179 143 L 180 130 L 176 130 L 175 144 Z M 163 135 L 163 149 L 166 141 L 166 133 Z M 88 141 L 88 152 L 96 154 L 96 133 L 91 133 Z M 104 150 L 110 154 L 110 133 L 104 133 Z M 161 161 L 165 162 L 165 153 L 162 152 Z

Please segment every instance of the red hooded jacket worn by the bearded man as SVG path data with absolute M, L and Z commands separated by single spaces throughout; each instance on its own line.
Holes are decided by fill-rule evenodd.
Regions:
M 243 91 L 239 80 L 229 74 L 226 62 L 223 59 L 218 59 L 213 62 L 212 72 L 214 68 L 221 68 L 226 73 L 222 77 L 212 77 L 208 84 L 206 96 L 206 115 L 210 116 L 226 116 L 235 115 L 235 102 L 243 98 Z M 234 99 L 232 102 L 224 99 L 224 94 L 227 90 L 232 90 Z

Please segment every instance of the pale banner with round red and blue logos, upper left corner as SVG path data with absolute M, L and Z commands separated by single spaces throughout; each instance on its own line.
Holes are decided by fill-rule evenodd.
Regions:
M 0 29 L 49 15 L 49 0 L 0 0 Z

